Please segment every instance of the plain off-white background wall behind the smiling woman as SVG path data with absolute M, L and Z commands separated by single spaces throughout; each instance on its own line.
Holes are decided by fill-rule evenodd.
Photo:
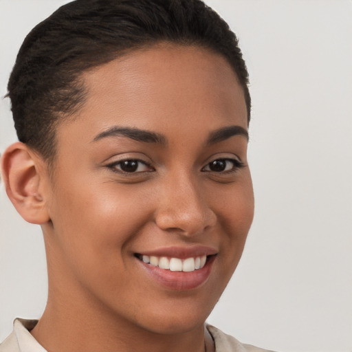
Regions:
M 25 35 L 65 0 L 0 0 L 0 96 Z M 208 0 L 239 36 L 251 76 L 256 214 L 209 322 L 286 352 L 352 351 L 352 2 Z M 0 102 L 0 153 L 16 140 Z M 41 230 L 0 185 L 0 341 L 39 318 Z

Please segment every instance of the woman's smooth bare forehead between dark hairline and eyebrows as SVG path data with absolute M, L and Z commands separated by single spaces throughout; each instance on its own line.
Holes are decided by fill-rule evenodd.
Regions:
M 160 44 L 136 50 L 85 72 L 83 82 L 87 100 L 74 122 L 77 133 L 91 138 L 113 124 L 160 133 L 181 128 L 200 133 L 213 124 L 247 127 L 236 74 L 223 56 L 202 47 Z

